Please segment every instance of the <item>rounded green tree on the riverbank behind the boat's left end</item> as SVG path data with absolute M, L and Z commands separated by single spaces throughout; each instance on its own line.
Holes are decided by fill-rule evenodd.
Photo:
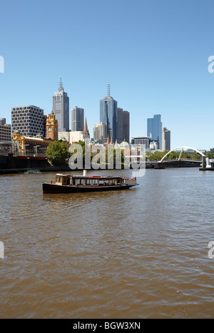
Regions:
M 66 165 L 68 164 L 68 158 L 70 158 L 68 145 L 64 141 L 54 141 L 49 144 L 49 147 L 46 150 L 46 156 L 53 165 Z

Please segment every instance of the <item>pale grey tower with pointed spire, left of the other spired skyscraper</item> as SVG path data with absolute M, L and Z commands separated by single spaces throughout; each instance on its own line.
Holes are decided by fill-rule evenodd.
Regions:
M 58 91 L 53 96 L 53 112 L 58 121 L 58 132 L 69 130 L 69 97 L 64 92 L 63 83 L 59 81 Z

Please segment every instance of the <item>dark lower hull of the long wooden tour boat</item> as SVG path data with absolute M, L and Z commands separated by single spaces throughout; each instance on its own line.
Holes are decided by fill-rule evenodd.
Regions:
M 56 185 L 50 183 L 43 183 L 43 193 L 87 193 L 87 192 L 102 192 L 112 190 L 128 190 L 135 185 L 111 185 L 111 186 L 70 186 L 70 185 Z

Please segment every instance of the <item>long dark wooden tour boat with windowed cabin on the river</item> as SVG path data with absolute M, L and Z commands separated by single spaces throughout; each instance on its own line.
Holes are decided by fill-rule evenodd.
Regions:
M 54 183 L 42 183 L 43 193 L 84 193 L 127 190 L 136 186 L 135 178 L 101 175 L 64 175 L 57 173 Z

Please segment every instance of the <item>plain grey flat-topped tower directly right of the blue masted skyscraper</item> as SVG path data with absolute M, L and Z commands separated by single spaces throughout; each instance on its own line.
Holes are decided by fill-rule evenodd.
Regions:
M 121 143 L 122 141 L 126 141 L 129 143 L 129 112 L 123 111 L 122 108 L 118 108 L 118 137 L 117 143 Z

